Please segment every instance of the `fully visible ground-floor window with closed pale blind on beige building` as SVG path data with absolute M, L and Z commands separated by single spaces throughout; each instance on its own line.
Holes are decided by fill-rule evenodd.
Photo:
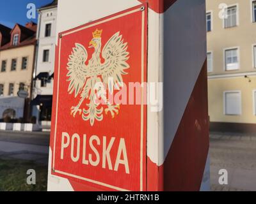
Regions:
M 224 92 L 224 110 L 225 115 L 241 115 L 241 92 Z

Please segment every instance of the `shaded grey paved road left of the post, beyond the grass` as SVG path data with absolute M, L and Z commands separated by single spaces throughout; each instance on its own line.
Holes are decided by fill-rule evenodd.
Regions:
M 0 157 L 48 162 L 49 133 L 0 131 Z

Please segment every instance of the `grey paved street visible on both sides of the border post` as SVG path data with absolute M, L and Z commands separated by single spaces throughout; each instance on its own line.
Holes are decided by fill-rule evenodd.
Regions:
M 0 131 L 0 159 L 42 164 L 47 170 L 49 133 Z M 211 133 L 211 191 L 256 191 L 256 135 Z M 228 185 L 218 184 L 219 170 Z

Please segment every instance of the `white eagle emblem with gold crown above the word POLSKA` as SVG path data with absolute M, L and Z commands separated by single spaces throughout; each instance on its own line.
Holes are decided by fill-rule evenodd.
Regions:
M 68 57 L 67 64 L 68 93 L 72 94 L 74 92 L 75 98 L 78 95 L 81 98 L 77 106 L 72 106 L 70 114 L 76 117 L 77 112 L 79 112 L 79 115 L 82 113 L 83 120 L 90 120 L 91 126 L 93 126 L 95 120 L 101 121 L 103 119 L 102 112 L 104 109 L 103 106 L 100 107 L 99 104 L 95 103 L 95 91 L 97 92 L 95 85 L 101 82 L 113 94 L 113 83 L 122 84 L 122 75 L 127 74 L 124 70 L 129 68 L 129 64 L 126 62 L 129 59 L 127 43 L 124 43 L 120 32 L 115 33 L 108 40 L 102 51 L 101 34 L 102 30 L 96 29 L 93 32 L 89 48 L 94 48 L 94 52 L 92 58 L 88 61 L 88 65 L 85 64 L 88 59 L 87 50 L 79 43 L 76 43 L 76 47 L 73 48 L 71 55 Z M 104 59 L 103 63 L 100 61 L 100 54 Z M 108 80 L 109 77 L 113 78 L 113 80 Z M 115 113 L 118 114 L 120 105 L 109 103 L 104 94 L 100 97 L 108 106 L 105 109 L 106 115 L 110 112 L 112 118 L 115 117 Z M 90 103 L 86 104 L 88 108 L 83 108 L 82 112 L 81 105 L 84 99 L 89 99 Z

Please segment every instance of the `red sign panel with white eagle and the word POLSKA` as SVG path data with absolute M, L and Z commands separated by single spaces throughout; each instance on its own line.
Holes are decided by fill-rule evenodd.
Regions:
M 132 103 L 134 84 L 144 82 L 146 6 L 60 34 L 52 107 L 53 175 L 95 189 L 145 190 L 147 86 L 140 86 L 140 103 Z

